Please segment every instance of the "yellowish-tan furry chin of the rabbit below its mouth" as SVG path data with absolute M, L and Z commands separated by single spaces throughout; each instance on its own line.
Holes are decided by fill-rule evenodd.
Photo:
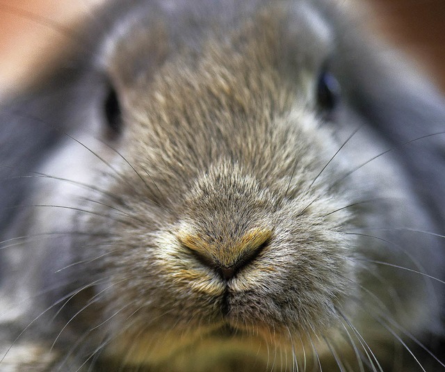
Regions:
M 137 333 L 137 332 L 136 332 Z M 228 324 L 199 327 L 188 332 L 139 334 L 129 332 L 111 343 L 104 356 L 117 364 L 152 366 L 156 371 L 275 371 L 305 359 L 314 346 L 322 357 L 329 353 L 319 340 L 280 332 L 264 326 L 232 327 Z M 256 368 L 255 368 L 256 366 Z

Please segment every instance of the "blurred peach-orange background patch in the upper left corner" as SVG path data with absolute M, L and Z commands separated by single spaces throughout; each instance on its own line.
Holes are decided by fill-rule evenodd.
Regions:
M 35 78 L 52 50 L 74 40 L 70 24 L 101 1 L 0 0 L 0 96 Z

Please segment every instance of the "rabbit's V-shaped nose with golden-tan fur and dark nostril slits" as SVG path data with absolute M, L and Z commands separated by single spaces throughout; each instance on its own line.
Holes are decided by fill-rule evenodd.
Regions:
M 240 238 L 182 231 L 177 238 L 204 266 L 216 270 L 224 280 L 230 280 L 266 248 L 272 238 L 272 230 L 251 229 Z

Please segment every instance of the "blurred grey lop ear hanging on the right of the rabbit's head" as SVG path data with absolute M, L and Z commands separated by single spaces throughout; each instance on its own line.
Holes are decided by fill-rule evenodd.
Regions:
M 439 233 L 445 226 L 445 100 L 394 51 L 359 35 L 340 40 L 337 68 L 346 99 L 394 146 Z

